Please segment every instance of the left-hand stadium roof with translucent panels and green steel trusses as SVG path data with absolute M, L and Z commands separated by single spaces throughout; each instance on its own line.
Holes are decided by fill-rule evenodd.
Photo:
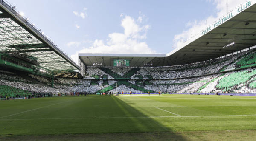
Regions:
M 28 18 L 23 18 L 15 6 L 3 0 L 0 0 L 0 52 L 19 52 L 36 57 L 41 67 L 51 71 L 79 69 Z

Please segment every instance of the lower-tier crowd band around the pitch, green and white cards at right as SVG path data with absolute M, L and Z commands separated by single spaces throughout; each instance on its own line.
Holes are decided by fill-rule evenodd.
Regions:
M 40 77 L 40 76 L 39 76 Z M 24 90 L 33 95 L 58 95 L 60 93 L 97 93 L 102 89 L 109 88 L 111 93 L 146 93 L 145 90 L 163 93 L 256 93 L 254 84 L 256 80 L 256 69 L 247 69 L 224 74 L 212 74 L 183 79 L 144 79 L 137 85 L 137 79 L 130 79 L 126 83 L 118 85 L 116 80 L 108 80 L 107 85 L 102 85 L 103 80 L 91 85 L 91 79 L 64 79 L 56 78 L 58 82 L 54 87 L 35 84 L 19 76 L 0 74 L 0 85 L 14 87 Z M 147 80 L 146 85 L 143 81 Z M 230 82 L 233 82 L 230 85 Z M 70 84 L 70 85 L 66 85 Z M 229 84 L 229 85 L 227 85 Z M 136 86 L 136 87 L 134 87 Z M 1 94 L 1 93 L 0 93 Z

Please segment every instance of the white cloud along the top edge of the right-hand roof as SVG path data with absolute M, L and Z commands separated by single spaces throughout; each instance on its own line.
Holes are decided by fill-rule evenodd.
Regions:
M 217 14 L 216 17 L 212 15 L 203 20 L 194 20 L 186 23 L 186 30 L 184 30 L 181 34 L 175 35 L 173 41 L 173 48 L 181 47 L 187 39 L 191 39 L 195 34 L 200 34 L 202 29 L 205 29 L 207 25 L 210 25 L 214 21 L 217 21 L 219 17 L 227 14 L 227 11 L 235 9 L 241 3 L 241 0 L 228 0 L 228 8 L 226 0 L 207 0 L 209 2 L 213 1 L 216 5 Z M 245 2 L 245 0 L 244 0 Z

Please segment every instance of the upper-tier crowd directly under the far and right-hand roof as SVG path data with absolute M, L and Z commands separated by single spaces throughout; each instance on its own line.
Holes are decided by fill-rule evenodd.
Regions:
M 174 79 L 174 78 L 183 78 L 183 77 L 191 77 L 191 76 L 200 76 L 207 75 L 212 73 L 218 73 L 224 69 L 235 68 L 236 64 L 239 60 L 246 58 L 248 53 L 252 54 L 251 56 L 255 56 L 255 49 L 243 51 L 239 54 L 233 54 L 226 57 L 216 58 L 212 60 L 207 60 L 204 62 L 192 63 L 187 65 L 177 65 L 177 66 L 167 66 L 167 67 L 140 67 L 139 71 L 131 76 L 131 79 L 137 79 L 137 75 L 151 75 L 153 79 Z M 250 59 L 254 60 L 254 59 Z M 131 70 L 131 67 L 109 67 L 111 71 L 117 73 L 119 75 L 124 75 L 128 71 Z M 93 75 L 107 75 L 108 79 L 113 79 L 113 75 L 111 76 L 102 69 L 96 67 L 88 67 L 86 79 L 94 79 Z

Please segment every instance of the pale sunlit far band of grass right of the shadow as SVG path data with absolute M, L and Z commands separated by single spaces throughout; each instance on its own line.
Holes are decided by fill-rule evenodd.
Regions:
M 253 96 L 204 96 L 204 95 L 164 95 L 157 97 L 133 96 L 119 97 L 124 102 L 133 101 L 143 104 L 163 105 L 163 107 L 200 107 L 200 106 L 256 106 Z M 140 105 L 143 106 L 143 105 Z

